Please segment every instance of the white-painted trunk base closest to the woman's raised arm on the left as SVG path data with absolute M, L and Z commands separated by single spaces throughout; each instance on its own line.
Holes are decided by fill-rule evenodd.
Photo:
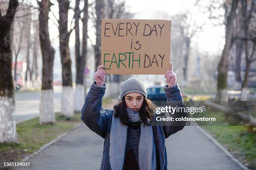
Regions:
M 84 104 L 84 85 L 76 85 L 74 94 L 74 110 L 81 111 Z

